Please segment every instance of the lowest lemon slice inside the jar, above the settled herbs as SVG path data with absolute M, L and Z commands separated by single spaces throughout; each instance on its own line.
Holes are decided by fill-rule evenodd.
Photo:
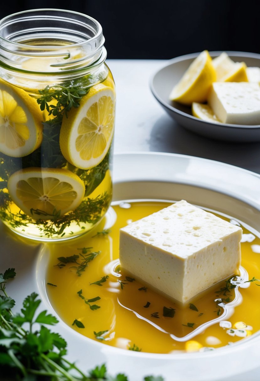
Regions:
M 25 168 L 8 180 L 11 199 L 34 219 L 50 219 L 54 212 L 64 215 L 82 202 L 83 181 L 62 168 Z

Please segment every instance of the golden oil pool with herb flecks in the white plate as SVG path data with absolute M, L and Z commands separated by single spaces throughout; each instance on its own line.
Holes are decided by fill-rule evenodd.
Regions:
M 226 303 L 233 301 L 234 289 L 220 292 L 226 286 L 223 281 L 192 304 L 180 307 L 144 283 L 133 280 L 132 275 L 119 271 L 119 229 L 169 205 L 159 201 L 120 203 L 113 206 L 116 221 L 109 234 L 103 231 L 103 221 L 79 239 L 48 244 L 47 293 L 53 308 L 67 325 L 106 345 L 154 353 L 201 351 L 231 345 L 243 339 L 239 333 L 234 335 L 237 328 L 244 328 L 241 322 L 249 326 L 244 329 L 246 336 L 260 330 L 260 303 L 256 302 L 260 287 L 255 284 L 260 282 L 239 288 L 242 303 L 235 306 L 231 316 L 225 319 L 228 320 L 227 327 L 221 327 L 217 321 L 190 338 L 190 334 L 202 324 L 221 317 L 223 308 L 215 299 L 226 299 Z M 242 229 L 244 234 L 252 233 L 244 226 Z M 249 279 L 259 279 L 260 239 L 254 232 L 252 234 L 255 237 L 252 242 L 241 243 L 241 265 L 248 272 Z M 86 255 L 98 251 L 100 253 L 88 266 L 84 266 Z M 76 256 L 72 259 L 76 263 L 64 263 L 70 256 Z M 104 280 L 106 275 L 108 278 Z M 104 281 L 98 283 L 102 279 Z

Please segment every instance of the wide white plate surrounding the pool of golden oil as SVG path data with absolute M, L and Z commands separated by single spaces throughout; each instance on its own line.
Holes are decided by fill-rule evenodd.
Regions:
M 260 231 L 258 174 L 212 160 L 153 152 L 117 154 L 113 170 L 114 200 L 186 199 L 231 215 Z M 0 272 L 8 267 L 15 267 L 17 272 L 16 279 L 7 285 L 9 295 L 17 302 L 16 310 L 25 296 L 36 291 L 42 299 L 41 308 L 56 315 L 45 289 L 48 244 L 24 240 L 3 224 L 0 241 Z M 250 371 L 260 361 L 260 333 L 215 351 L 173 355 L 107 346 L 80 335 L 63 321 L 53 330 L 66 339 L 69 360 L 76 361 L 82 370 L 106 363 L 109 373 L 124 372 L 130 381 L 141 381 L 151 374 L 162 375 L 165 381 L 220 381 Z M 250 379 L 259 377 L 260 372 Z

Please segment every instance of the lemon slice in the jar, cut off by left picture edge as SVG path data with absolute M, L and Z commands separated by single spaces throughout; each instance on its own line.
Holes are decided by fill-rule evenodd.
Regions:
M 29 155 L 42 142 L 42 114 L 26 91 L 0 80 L 0 152 Z

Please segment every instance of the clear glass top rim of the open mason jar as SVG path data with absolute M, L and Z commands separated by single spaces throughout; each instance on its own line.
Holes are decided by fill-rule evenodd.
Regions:
M 71 15 L 74 14 L 74 15 L 81 16 L 81 17 L 83 17 L 83 18 L 85 18 L 87 20 L 90 20 L 91 22 L 93 22 L 93 24 L 96 25 L 97 32 L 96 32 L 96 34 L 93 37 L 90 37 L 87 40 L 82 41 L 82 42 L 77 42 L 77 43 L 71 44 L 71 45 L 69 45 L 70 48 L 79 47 L 79 46 L 84 45 L 86 43 L 91 43 L 91 42 L 93 42 L 93 40 L 97 40 L 100 37 L 101 38 L 103 37 L 103 30 L 102 30 L 101 24 L 96 19 L 94 19 L 91 16 L 88 16 L 87 14 L 84 14 L 84 13 L 81 13 L 81 12 L 77 12 L 77 11 L 66 10 L 66 9 L 58 9 L 58 8 L 36 8 L 36 9 L 30 9 L 30 10 L 25 10 L 25 11 L 20 11 L 20 12 L 12 13 L 12 14 L 9 14 L 8 16 L 5 16 L 2 19 L 0 19 L 0 40 L 3 40 L 5 42 L 11 43 L 13 45 L 19 46 L 21 48 L 22 47 L 24 47 L 24 48 L 32 48 L 32 45 L 24 44 L 24 43 L 20 43 L 20 42 L 16 42 L 16 41 L 12 41 L 12 40 L 10 40 L 8 38 L 5 38 L 1 34 L 3 27 L 5 27 L 7 24 L 9 24 L 11 22 L 11 18 L 14 18 L 15 16 L 26 15 L 26 14 L 29 14 L 29 13 L 32 13 L 32 12 L 37 13 L 38 16 L 40 16 L 40 14 L 43 13 L 43 12 L 53 12 L 53 13 L 54 12 L 59 12 L 59 13 L 64 12 L 64 13 L 67 13 L 68 15 L 69 14 L 71 14 Z M 35 16 L 37 17 L 37 15 L 35 15 Z M 32 16 L 29 16 L 29 18 L 32 18 L 32 17 L 35 17 L 35 16 L 32 15 Z M 45 16 L 48 16 L 48 15 L 46 14 Z M 55 16 L 55 17 L 57 17 L 57 16 Z M 14 21 L 15 20 L 13 20 L 12 22 L 14 22 Z M 19 19 L 17 19 L 16 21 L 19 21 Z M 103 41 L 103 43 L 104 43 L 104 41 Z M 35 49 L 37 49 L 37 48 L 42 49 L 41 45 L 34 45 L 33 47 Z M 50 49 L 50 50 L 57 50 L 57 48 L 60 48 L 60 46 L 58 46 L 58 45 L 57 46 L 48 46 L 48 49 Z

